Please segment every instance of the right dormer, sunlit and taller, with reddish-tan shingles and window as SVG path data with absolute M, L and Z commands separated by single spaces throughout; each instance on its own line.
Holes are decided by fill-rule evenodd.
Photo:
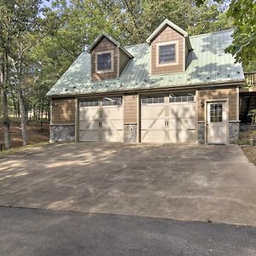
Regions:
M 182 28 L 166 19 L 146 41 L 150 45 L 152 75 L 186 70 L 187 55 L 192 47 L 189 34 Z

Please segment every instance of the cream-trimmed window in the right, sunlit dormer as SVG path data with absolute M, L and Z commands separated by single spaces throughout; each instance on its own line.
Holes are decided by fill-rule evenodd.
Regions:
M 177 65 L 177 41 L 156 44 L 156 67 Z

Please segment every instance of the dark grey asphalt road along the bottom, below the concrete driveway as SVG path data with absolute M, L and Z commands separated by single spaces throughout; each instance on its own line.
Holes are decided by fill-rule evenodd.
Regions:
M 256 228 L 0 207 L 0 255 L 256 255 Z

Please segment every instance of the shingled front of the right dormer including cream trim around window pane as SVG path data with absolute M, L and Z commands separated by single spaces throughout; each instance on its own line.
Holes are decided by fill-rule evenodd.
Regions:
M 159 65 L 158 62 L 158 45 L 171 42 L 176 43 L 176 58 L 177 63 L 170 63 L 170 65 Z M 166 74 L 166 73 L 178 73 L 184 71 L 185 61 L 185 40 L 183 35 L 174 30 L 170 26 L 160 32 L 157 38 L 151 43 L 151 74 Z

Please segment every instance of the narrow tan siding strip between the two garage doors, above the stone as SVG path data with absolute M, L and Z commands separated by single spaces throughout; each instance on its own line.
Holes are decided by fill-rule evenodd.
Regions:
M 137 95 L 124 96 L 124 123 L 137 124 Z

